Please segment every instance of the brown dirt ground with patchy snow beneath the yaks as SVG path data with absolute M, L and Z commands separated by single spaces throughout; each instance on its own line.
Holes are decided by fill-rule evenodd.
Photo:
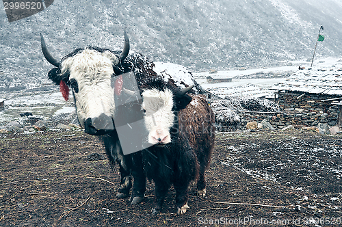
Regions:
M 254 131 L 217 133 L 207 196 L 195 187 L 176 215 L 170 189 L 161 214 L 146 199 L 116 198 L 96 137 L 81 131 L 0 134 L 0 226 L 340 226 L 342 135 Z M 90 159 L 93 157 L 93 159 Z

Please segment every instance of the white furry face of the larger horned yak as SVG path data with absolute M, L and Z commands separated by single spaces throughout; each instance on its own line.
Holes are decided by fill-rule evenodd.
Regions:
M 77 116 L 83 125 L 87 118 L 101 114 L 114 116 L 114 88 L 111 87 L 113 64 L 118 64 L 118 57 L 110 51 L 100 53 L 84 49 L 62 62 L 62 74 L 70 72 L 69 79 L 75 79 L 79 92 L 75 93 Z

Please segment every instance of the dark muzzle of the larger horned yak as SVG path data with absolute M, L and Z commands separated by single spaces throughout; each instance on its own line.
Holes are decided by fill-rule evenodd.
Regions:
M 84 131 L 90 135 L 105 135 L 113 130 L 113 119 L 105 114 L 84 121 Z

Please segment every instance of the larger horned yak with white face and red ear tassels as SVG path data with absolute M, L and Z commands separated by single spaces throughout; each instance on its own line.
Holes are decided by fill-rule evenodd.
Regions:
M 133 176 L 132 204 L 141 202 L 146 185 L 141 152 L 123 155 L 114 126 L 114 118 L 118 115 L 142 115 L 141 103 L 131 103 L 138 108 L 130 108 L 125 113 L 120 112 L 115 103 L 120 98 L 128 97 L 122 92 L 122 74 L 133 72 L 137 85 L 141 86 L 146 78 L 157 77 L 152 70 L 153 62 L 138 53 L 129 54 L 126 32 L 122 51 L 89 46 L 86 49 L 76 49 L 61 61 L 49 53 L 42 34 L 40 40 L 44 57 L 55 66 L 48 73 L 49 79 L 60 85 L 66 100 L 71 88 L 79 123 L 86 133 L 98 135 L 103 141 L 111 166 L 116 162 L 119 165 L 121 182 L 118 198 L 129 196 Z

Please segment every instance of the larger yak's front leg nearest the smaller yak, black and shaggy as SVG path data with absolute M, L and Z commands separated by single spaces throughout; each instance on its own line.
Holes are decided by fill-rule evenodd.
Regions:
M 146 176 L 142 164 L 142 152 L 132 154 L 132 176 L 134 178 L 131 205 L 138 204 L 144 200 L 146 189 Z

